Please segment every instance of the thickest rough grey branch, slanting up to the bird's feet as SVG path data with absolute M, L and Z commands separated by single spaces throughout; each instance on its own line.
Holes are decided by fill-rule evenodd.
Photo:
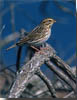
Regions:
M 37 53 L 32 57 L 32 59 L 22 66 L 20 72 L 17 74 L 15 82 L 11 88 L 9 98 L 17 98 L 21 95 L 22 91 L 25 89 L 25 85 L 28 84 L 29 79 L 34 75 L 34 73 L 38 70 L 45 61 L 49 59 L 49 57 L 53 56 L 55 50 L 50 46 L 47 46 L 49 50 L 45 50 L 45 55 L 41 55 Z

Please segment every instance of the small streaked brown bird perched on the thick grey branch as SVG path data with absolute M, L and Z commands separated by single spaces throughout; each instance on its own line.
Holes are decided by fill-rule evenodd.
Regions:
M 31 32 L 29 32 L 29 34 L 21 38 L 16 44 L 7 48 L 7 50 L 15 48 L 16 46 L 28 44 L 38 51 L 36 47 L 45 43 L 49 39 L 49 37 L 51 36 L 52 25 L 55 22 L 56 20 L 52 18 L 45 18 L 43 21 L 40 22 L 38 26 L 36 26 Z

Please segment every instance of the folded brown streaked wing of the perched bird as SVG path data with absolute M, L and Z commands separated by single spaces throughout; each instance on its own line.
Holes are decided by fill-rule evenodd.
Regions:
M 27 36 L 25 36 L 24 38 L 22 38 L 17 45 L 22 45 L 24 43 L 28 43 L 28 42 L 33 42 L 33 41 L 37 41 L 38 39 L 42 39 L 46 34 L 46 29 L 44 29 L 44 27 L 42 26 L 37 26 L 36 28 L 34 28 Z

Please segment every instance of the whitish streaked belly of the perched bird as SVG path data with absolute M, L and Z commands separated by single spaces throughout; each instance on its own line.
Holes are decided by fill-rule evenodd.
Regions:
M 33 45 L 33 46 L 39 46 L 42 43 L 46 42 L 48 38 L 50 37 L 50 35 L 51 35 L 51 32 L 50 33 L 47 32 L 45 37 L 35 40 L 35 41 L 31 41 L 31 42 L 29 41 L 28 44 Z

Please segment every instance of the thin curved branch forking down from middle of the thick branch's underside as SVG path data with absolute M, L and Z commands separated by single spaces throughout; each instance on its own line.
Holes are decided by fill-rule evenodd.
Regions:
M 37 70 L 36 75 L 38 75 L 45 82 L 45 84 L 47 85 L 47 87 L 51 93 L 51 96 L 54 98 L 57 98 L 58 96 L 56 95 L 56 91 L 55 91 L 51 81 L 42 73 L 42 71 L 40 69 Z

